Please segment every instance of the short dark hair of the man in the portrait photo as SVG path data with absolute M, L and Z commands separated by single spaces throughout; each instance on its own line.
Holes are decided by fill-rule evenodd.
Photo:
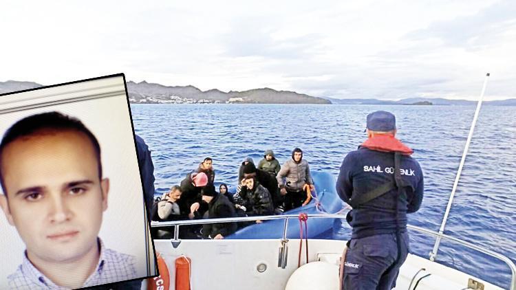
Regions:
M 80 122 L 77 118 L 64 115 L 56 111 L 49 113 L 41 113 L 36 115 L 30 115 L 29 117 L 23 118 L 18 122 L 14 123 L 10 128 L 3 134 L 2 141 L 0 143 L 0 183 L 2 186 L 3 193 L 6 194 L 6 186 L 3 183 L 3 172 L 1 171 L 1 165 L 3 162 L 3 150 L 8 144 L 23 138 L 30 137 L 32 135 L 45 135 L 47 133 L 54 133 L 59 131 L 76 131 L 84 133 L 95 150 L 98 164 L 98 178 L 102 178 L 102 164 L 100 163 L 100 145 L 98 144 L 97 138 L 93 135 L 92 131 L 86 128 L 83 122 Z

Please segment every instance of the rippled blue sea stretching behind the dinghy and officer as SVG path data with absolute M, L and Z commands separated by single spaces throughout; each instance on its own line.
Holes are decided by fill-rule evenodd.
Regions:
M 237 184 L 241 161 L 266 149 L 282 164 L 303 149 L 312 170 L 335 177 L 343 157 L 365 140 L 365 117 L 396 115 L 398 137 L 414 149 L 424 171 L 421 209 L 409 223 L 438 231 L 474 106 L 133 104 L 136 133 L 153 150 L 156 194 L 166 192 L 204 157 L 214 159 L 216 183 Z M 482 107 L 445 234 L 516 260 L 516 107 Z M 411 252 L 428 257 L 434 238 L 411 232 Z M 504 263 L 442 241 L 438 260 L 508 288 Z

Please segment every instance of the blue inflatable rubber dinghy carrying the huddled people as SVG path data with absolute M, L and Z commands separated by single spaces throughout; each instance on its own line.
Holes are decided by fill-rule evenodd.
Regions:
M 345 203 L 338 197 L 335 190 L 335 178 L 328 172 L 313 171 L 312 179 L 314 179 L 314 186 L 317 192 L 316 198 L 312 198 L 310 203 L 294 208 L 283 214 L 321 214 L 321 210 L 327 213 L 336 213 L 343 210 Z M 312 192 L 314 196 L 314 192 Z M 319 200 L 320 205 L 316 207 L 316 202 Z M 319 209 L 318 209 L 319 208 Z M 345 216 L 343 216 L 344 218 Z M 345 222 L 345 220 L 342 220 Z M 308 238 L 338 238 L 340 234 L 334 234 L 334 227 L 340 228 L 341 220 L 336 219 L 308 219 Z M 255 239 L 255 238 L 281 238 L 285 221 L 283 219 L 264 221 L 264 223 L 257 223 L 249 225 L 241 230 L 235 232 L 226 238 L 233 239 Z M 304 231 L 304 229 L 303 229 Z M 299 238 L 299 222 L 290 219 L 287 228 L 287 238 Z

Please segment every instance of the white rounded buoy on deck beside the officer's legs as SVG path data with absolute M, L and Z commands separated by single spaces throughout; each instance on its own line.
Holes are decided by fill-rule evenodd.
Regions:
M 338 290 L 339 282 L 338 265 L 311 262 L 290 275 L 285 290 Z

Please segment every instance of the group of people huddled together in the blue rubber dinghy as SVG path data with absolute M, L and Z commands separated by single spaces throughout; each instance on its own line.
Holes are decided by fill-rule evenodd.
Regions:
M 246 157 L 239 166 L 238 180 L 235 193 L 229 192 L 226 183 L 215 188 L 213 159 L 206 157 L 180 185 L 173 186 L 153 203 L 151 219 L 177 221 L 281 214 L 301 206 L 310 190 L 314 190 L 310 166 L 300 148 L 294 148 L 291 159 L 282 166 L 272 150 L 266 150 L 258 166 L 251 157 Z M 204 225 L 199 233 L 183 234 L 219 239 L 236 230 L 236 223 L 214 223 Z

